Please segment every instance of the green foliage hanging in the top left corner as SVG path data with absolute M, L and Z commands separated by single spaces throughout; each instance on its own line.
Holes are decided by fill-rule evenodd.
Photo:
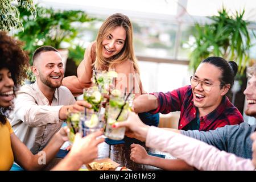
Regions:
M 22 22 L 19 19 L 19 10 L 13 5 L 15 2 L 18 2 L 19 7 L 26 9 L 33 18 L 36 17 L 32 0 L 0 0 L 0 30 L 10 31 L 12 28 L 23 30 Z

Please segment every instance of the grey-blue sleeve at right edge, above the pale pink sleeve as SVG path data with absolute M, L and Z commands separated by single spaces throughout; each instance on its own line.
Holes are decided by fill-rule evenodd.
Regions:
M 251 159 L 251 155 L 253 154 L 251 145 L 253 142 L 250 139 L 250 135 L 255 129 L 256 125 L 241 123 L 240 125 L 226 125 L 210 131 L 180 131 L 183 135 L 201 140 L 217 147 L 219 150 L 236 154 L 242 158 Z

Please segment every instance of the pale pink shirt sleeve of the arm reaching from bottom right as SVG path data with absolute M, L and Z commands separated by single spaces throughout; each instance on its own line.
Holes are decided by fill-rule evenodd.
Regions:
M 148 129 L 146 146 L 168 152 L 199 170 L 255 170 L 250 159 L 239 158 L 199 140 L 154 126 Z

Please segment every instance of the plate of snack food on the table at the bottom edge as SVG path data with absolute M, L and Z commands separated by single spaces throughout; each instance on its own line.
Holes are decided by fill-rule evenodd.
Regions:
M 114 171 L 118 166 L 120 166 L 120 164 L 109 158 L 94 160 L 86 164 L 86 168 L 92 171 Z

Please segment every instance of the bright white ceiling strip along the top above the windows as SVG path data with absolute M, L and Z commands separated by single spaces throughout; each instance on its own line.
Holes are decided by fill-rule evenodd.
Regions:
M 255 0 L 37 0 L 42 6 L 56 9 L 81 9 L 88 14 L 111 15 L 124 13 L 128 16 L 141 16 L 166 19 L 171 16 L 210 16 L 224 5 L 231 13 L 245 9 L 245 19 L 256 22 Z M 179 9 L 177 11 L 177 9 Z

